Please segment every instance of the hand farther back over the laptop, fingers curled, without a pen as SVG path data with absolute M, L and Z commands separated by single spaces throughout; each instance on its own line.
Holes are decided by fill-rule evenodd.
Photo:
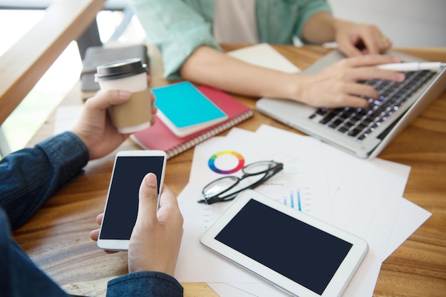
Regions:
M 339 51 L 348 57 L 385 53 L 392 47 L 392 41 L 375 25 L 336 20 L 335 30 Z

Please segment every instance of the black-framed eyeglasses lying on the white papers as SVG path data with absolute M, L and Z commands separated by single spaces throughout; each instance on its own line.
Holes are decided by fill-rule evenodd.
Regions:
M 198 202 L 212 204 L 232 200 L 245 189 L 258 187 L 282 169 L 284 169 L 284 164 L 274 161 L 251 163 L 242 168 L 242 177 L 230 175 L 209 182 L 202 190 L 204 199 Z

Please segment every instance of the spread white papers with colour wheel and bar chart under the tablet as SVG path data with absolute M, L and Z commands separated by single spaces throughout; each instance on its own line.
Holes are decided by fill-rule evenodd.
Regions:
M 368 242 L 368 254 L 343 296 L 372 296 L 382 262 L 430 217 L 403 198 L 408 166 L 361 160 L 313 137 L 267 125 L 256 132 L 233 128 L 195 147 L 190 182 L 178 197 L 185 218 L 175 273 L 179 281 L 206 282 L 219 296 L 286 296 L 199 243 L 206 226 L 228 205 L 198 204 L 204 185 L 222 177 L 222 171 L 241 176 L 242 165 L 260 160 L 283 162 L 284 170 L 256 191 Z M 290 236 L 299 234 L 290 230 Z

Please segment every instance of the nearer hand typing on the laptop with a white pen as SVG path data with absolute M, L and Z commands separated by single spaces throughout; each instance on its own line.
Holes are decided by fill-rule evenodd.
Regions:
M 405 79 L 403 73 L 375 67 L 379 64 L 399 62 L 400 58 L 382 55 L 345 58 L 318 73 L 299 75 L 294 99 L 316 108 L 365 108 L 368 105 L 365 98 L 376 99 L 378 92 L 370 85 L 358 83 L 358 80 L 383 79 L 402 82 Z

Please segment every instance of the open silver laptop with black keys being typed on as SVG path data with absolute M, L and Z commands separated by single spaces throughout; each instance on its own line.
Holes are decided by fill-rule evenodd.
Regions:
M 399 56 L 404 62 L 425 61 L 396 51 L 388 51 L 388 54 Z M 303 73 L 316 73 L 341 58 L 344 58 L 342 53 L 333 50 Z M 446 89 L 446 68 L 406 72 L 405 75 L 403 83 L 363 81 L 373 85 L 380 95 L 377 100 L 369 99 L 368 108 L 311 108 L 291 100 L 273 98 L 261 98 L 256 108 L 334 147 L 371 159 Z

